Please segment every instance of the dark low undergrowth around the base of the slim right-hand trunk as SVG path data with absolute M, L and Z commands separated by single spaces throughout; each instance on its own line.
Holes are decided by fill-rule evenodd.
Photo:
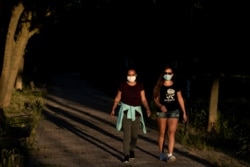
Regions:
M 244 101 L 245 103 L 245 101 Z M 209 150 L 217 149 L 249 162 L 250 137 L 249 117 L 242 112 L 238 100 L 220 101 L 216 131 L 207 132 L 208 103 L 203 100 L 192 101 L 189 108 L 189 123 L 179 126 L 176 140 L 188 147 Z M 239 113 L 239 112 L 242 113 Z M 245 110 L 246 112 L 246 110 Z

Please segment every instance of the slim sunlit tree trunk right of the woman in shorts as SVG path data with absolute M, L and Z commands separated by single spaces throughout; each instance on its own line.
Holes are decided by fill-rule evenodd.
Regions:
M 208 127 L 207 131 L 211 132 L 215 129 L 215 124 L 218 117 L 218 101 L 219 101 L 219 76 L 216 76 L 213 79 L 212 87 L 211 87 L 211 96 L 210 96 L 210 104 L 209 104 L 209 116 L 208 116 Z

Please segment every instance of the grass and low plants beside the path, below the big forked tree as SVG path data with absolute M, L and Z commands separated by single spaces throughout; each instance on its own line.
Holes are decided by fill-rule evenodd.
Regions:
M 5 130 L 13 140 L 0 137 L 0 167 L 22 167 L 28 146 L 32 145 L 35 128 L 45 103 L 46 91 L 15 91 L 11 105 L 4 108 Z M 23 140 L 24 139 L 24 140 Z

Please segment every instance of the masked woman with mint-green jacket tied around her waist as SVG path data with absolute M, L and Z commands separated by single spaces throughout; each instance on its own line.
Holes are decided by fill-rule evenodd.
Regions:
M 118 103 L 121 104 L 116 129 L 118 131 L 123 129 L 124 163 L 128 163 L 131 158 L 135 158 L 134 150 L 136 148 L 139 129 L 142 128 L 146 134 L 141 105 L 145 107 L 147 116 L 151 115 L 144 86 L 141 82 L 136 81 L 136 77 L 136 70 L 128 68 L 127 80 L 120 83 L 111 111 L 111 117 L 114 117 Z

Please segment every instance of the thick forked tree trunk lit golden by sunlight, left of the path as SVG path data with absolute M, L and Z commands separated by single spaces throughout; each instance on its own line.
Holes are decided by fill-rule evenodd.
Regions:
M 0 78 L 0 107 L 8 107 L 10 104 L 26 45 L 29 38 L 38 31 L 38 29 L 30 31 L 32 13 L 30 11 L 25 12 L 24 9 L 20 2 L 17 6 L 14 6 L 10 18 Z

